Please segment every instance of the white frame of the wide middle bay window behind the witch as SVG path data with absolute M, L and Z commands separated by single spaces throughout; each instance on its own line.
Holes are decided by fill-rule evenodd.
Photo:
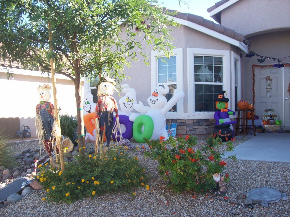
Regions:
M 188 86 L 188 113 L 194 114 L 194 119 L 213 119 L 214 112 L 195 112 L 195 92 L 194 92 L 194 55 L 197 56 L 217 56 L 222 57 L 223 60 L 223 82 L 214 83 L 209 82 L 205 84 L 222 84 L 223 90 L 229 92 L 230 87 L 230 51 L 215 50 L 215 49 L 200 49 L 200 48 L 187 48 L 187 86 Z M 204 84 L 204 83 L 203 83 Z M 230 98 L 234 96 L 225 96 Z M 230 105 L 229 105 L 230 107 Z M 191 117 L 192 119 L 193 117 Z

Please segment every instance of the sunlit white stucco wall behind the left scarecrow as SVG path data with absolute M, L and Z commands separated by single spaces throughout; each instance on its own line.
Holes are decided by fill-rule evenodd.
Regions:
M 51 77 L 41 72 L 22 70 L 11 68 L 13 79 L 7 80 L 6 68 L 0 68 L 0 91 L 1 102 L 0 118 L 19 118 L 19 126 L 13 132 L 8 134 L 16 134 L 21 130 L 21 126 L 29 126 L 31 129 L 31 137 L 36 137 L 35 127 L 35 107 L 39 103 L 37 95 L 37 87 L 39 85 L 50 84 L 52 86 Z M 82 82 L 83 85 L 83 82 Z M 60 114 L 76 116 L 76 98 L 75 87 L 70 79 L 63 75 L 56 75 L 56 90 L 58 96 L 58 104 L 61 108 Z M 51 91 L 50 102 L 53 102 L 53 92 Z M 15 131 L 15 132 L 14 132 Z

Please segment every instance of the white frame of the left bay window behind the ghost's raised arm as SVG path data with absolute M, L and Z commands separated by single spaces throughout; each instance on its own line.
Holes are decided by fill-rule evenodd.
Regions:
M 183 48 L 173 49 L 176 56 L 176 89 L 183 91 Z M 151 90 L 158 85 L 158 58 L 164 57 L 163 52 L 151 51 Z M 177 112 L 167 112 L 166 119 L 180 118 L 183 114 L 183 99 L 176 103 Z

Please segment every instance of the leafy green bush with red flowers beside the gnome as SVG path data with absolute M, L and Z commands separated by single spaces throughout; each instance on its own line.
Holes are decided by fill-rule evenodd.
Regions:
M 221 158 L 223 154 L 220 148 L 223 143 L 220 138 L 214 139 L 211 135 L 200 150 L 194 149 L 197 146 L 196 137 L 170 136 L 166 141 L 163 139 L 146 140 L 150 152 L 144 155 L 159 161 L 159 175 L 169 180 L 167 187 L 175 192 L 193 190 L 203 193 L 216 187 L 212 175 L 221 173 L 226 165 Z M 233 150 L 232 142 L 227 143 L 226 150 Z M 235 156 L 231 158 L 235 159 Z M 229 175 L 226 175 L 224 181 L 229 181 Z

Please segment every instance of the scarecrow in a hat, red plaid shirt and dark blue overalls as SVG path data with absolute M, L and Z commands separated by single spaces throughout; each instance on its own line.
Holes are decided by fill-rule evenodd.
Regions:
M 96 105 L 96 147 L 95 152 L 97 153 L 98 144 L 101 144 L 101 131 L 105 128 L 107 147 L 109 147 L 112 134 L 121 132 L 118 105 L 113 96 L 116 82 L 109 77 L 101 77 L 97 85 L 98 88 L 98 102 Z M 116 122 L 114 126 L 114 112 L 116 113 Z M 102 151 L 102 147 L 101 147 Z

